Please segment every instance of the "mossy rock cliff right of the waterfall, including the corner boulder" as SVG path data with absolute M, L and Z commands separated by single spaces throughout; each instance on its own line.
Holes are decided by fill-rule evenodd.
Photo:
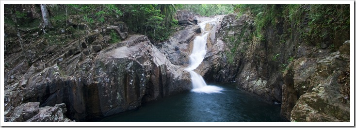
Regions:
M 256 37 L 254 20 L 251 15 L 223 18 L 215 41 L 225 47 L 201 73 L 205 80 L 237 82 L 281 104 L 281 115 L 291 121 L 349 122 L 349 38 L 335 36 L 324 40 L 334 45 L 316 47 L 282 18 L 276 19 L 277 27 L 267 26 Z M 346 42 L 338 45 L 337 38 Z M 330 46 L 341 47 L 335 51 Z M 210 62 L 208 54 L 203 64 Z

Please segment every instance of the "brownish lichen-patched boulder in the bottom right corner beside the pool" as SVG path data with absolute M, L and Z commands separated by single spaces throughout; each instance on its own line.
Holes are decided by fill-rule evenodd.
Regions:
M 350 60 L 340 59 L 337 51 L 316 64 L 308 92 L 299 97 L 291 111 L 291 121 L 350 122 L 350 76 L 345 73 L 350 72 Z

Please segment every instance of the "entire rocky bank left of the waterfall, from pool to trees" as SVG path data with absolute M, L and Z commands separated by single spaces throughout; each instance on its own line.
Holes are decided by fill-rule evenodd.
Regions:
M 21 61 L 20 52 L 5 55 L 5 122 L 89 121 L 192 88 L 182 64 L 188 63 L 189 42 L 200 33 L 196 23 L 183 25 L 168 42 L 156 43 L 158 48 L 145 35 L 128 35 L 124 23 L 81 29 L 84 37 L 63 46 L 32 39 L 26 44 L 31 65 Z M 123 41 L 110 43 L 109 32 Z M 60 119 L 51 116 L 57 113 Z

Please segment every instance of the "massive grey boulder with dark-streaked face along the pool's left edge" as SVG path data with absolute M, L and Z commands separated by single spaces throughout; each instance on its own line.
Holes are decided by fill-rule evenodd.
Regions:
M 26 121 L 10 118 L 20 117 L 17 106 L 31 102 L 38 103 L 39 113 L 56 112 L 58 108 L 48 106 L 65 103 L 62 108 L 67 111 L 62 112 L 67 117 L 89 121 L 192 88 L 189 73 L 172 64 L 144 35 L 131 35 L 120 43 L 102 45 L 96 53 L 85 53 L 91 47 L 82 46 L 104 41 L 99 33 L 74 41 L 65 49 L 53 49 L 47 61 L 24 70 L 25 64 L 19 64 L 9 71 L 4 96 L 9 120 L 5 121 Z M 26 119 L 35 114 L 27 113 Z M 28 121 L 63 121 L 35 117 Z

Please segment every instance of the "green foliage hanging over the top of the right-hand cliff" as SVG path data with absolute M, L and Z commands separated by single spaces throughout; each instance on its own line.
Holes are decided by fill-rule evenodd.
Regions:
M 349 4 L 236 4 L 234 10 L 238 16 L 255 16 L 254 36 L 260 41 L 265 40 L 266 27 L 277 29 L 282 27 L 277 26 L 281 21 L 291 24 L 285 28 L 285 37 L 292 38 L 292 28 L 295 28 L 303 42 L 317 48 L 327 41 L 332 42 L 328 48 L 339 48 L 350 38 Z

